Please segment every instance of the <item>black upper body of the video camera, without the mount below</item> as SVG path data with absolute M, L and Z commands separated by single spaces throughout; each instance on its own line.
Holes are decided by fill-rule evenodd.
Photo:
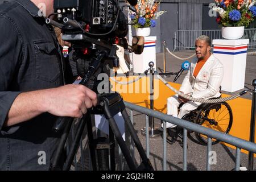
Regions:
M 53 8 L 58 13 L 59 21 L 65 17 L 76 20 L 84 30 L 95 34 L 88 36 L 108 40 L 127 35 L 127 20 L 120 10 L 118 0 L 55 0 Z M 79 29 L 69 24 L 63 28 L 63 32 L 77 34 Z

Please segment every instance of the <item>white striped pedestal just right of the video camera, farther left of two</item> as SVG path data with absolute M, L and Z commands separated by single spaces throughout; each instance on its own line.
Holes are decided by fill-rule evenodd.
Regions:
M 144 37 L 144 51 L 141 55 L 133 54 L 133 72 L 144 73 L 148 68 L 148 63 L 154 62 L 156 68 L 156 52 L 155 52 L 156 36 Z

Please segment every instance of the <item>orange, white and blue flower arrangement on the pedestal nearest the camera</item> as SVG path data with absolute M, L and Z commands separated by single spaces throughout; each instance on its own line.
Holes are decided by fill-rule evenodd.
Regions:
M 155 2 L 154 0 L 138 0 L 135 9 L 137 14 L 131 14 L 131 22 L 134 28 L 145 28 L 145 27 L 155 27 L 158 17 L 167 11 L 159 11 L 158 6 L 160 2 Z

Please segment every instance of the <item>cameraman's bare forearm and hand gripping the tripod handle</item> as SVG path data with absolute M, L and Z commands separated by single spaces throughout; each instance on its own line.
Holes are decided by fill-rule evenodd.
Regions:
M 81 118 L 97 104 L 97 94 L 84 85 L 65 85 L 53 89 L 20 93 L 14 100 L 5 126 L 28 121 L 39 114 Z

